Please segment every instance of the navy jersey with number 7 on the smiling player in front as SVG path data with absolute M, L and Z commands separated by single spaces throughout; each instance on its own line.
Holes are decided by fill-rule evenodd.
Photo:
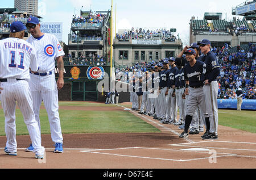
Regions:
M 192 67 L 189 63 L 184 66 L 184 77 L 186 81 L 189 81 L 190 87 L 203 86 L 204 79 L 201 79 L 203 65 L 204 62 L 197 60 Z

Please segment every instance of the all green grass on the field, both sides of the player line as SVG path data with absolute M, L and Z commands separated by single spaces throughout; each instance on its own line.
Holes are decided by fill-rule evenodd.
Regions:
M 43 103 L 42 103 L 43 104 Z M 114 104 L 90 102 L 59 102 L 60 106 L 108 106 Z M 131 108 L 130 105 L 122 105 Z M 100 110 L 100 108 L 99 108 Z M 63 133 L 123 133 L 123 132 L 160 132 L 159 129 L 144 122 L 129 111 L 82 111 L 59 110 Z M 0 109 L 0 136 L 5 136 L 5 116 Z M 40 110 L 42 134 L 49 134 L 49 122 L 46 110 Z M 218 110 L 218 124 L 256 133 L 256 111 Z M 16 133 L 28 135 L 22 114 L 16 110 Z

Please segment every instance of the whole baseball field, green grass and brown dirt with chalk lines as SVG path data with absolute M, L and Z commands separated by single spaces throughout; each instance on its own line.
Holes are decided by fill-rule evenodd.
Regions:
M 255 168 L 255 111 L 218 110 L 219 139 L 205 141 L 201 139 L 203 133 L 180 139 L 182 130 L 177 126 L 162 124 L 129 108 L 131 103 L 60 101 L 64 153 L 56 154 L 52 152 L 54 146 L 42 103 L 40 120 L 46 158 L 39 162 L 33 153 L 24 151 L 30 137 L 18 106 L 18 156 L 5 155 L 5 118 L 1 107 L 0 168 Z

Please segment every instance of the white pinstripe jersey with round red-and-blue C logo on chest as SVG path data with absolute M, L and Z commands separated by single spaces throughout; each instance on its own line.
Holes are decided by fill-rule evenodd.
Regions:
M 55 58 L 65 55 L 59 41 L 54 35 L 45 33 L 40 40 L 30 36 L 27 41 L 34 45 L 38 51 L 39 73 L 45 73 L 55 69 Z

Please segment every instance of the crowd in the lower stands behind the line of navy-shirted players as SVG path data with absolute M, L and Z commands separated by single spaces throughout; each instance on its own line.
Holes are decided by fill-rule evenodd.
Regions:
M 223 47 L 212 47 L 211 51 L 216 54 L 221 66 L 220 76 L 217 79 L 219 99 L 236 99 L 238 87 L 243 91 L 243 99 L 256 99 L 256 47 L 255 44 L 249 43 L 248 45 L 249 51 L 246 52 L 238 46 L 234 53 L 231 53 L 231 47 L 228 44 Z M 133 66 L 126 66 L 126 68 L 117 68 L 115 74 L 117 79 L 128 81 L 129 72 L 133 72 L 134 69 L 137 72 L 146 72 L 158 62 L 140 62 Z

